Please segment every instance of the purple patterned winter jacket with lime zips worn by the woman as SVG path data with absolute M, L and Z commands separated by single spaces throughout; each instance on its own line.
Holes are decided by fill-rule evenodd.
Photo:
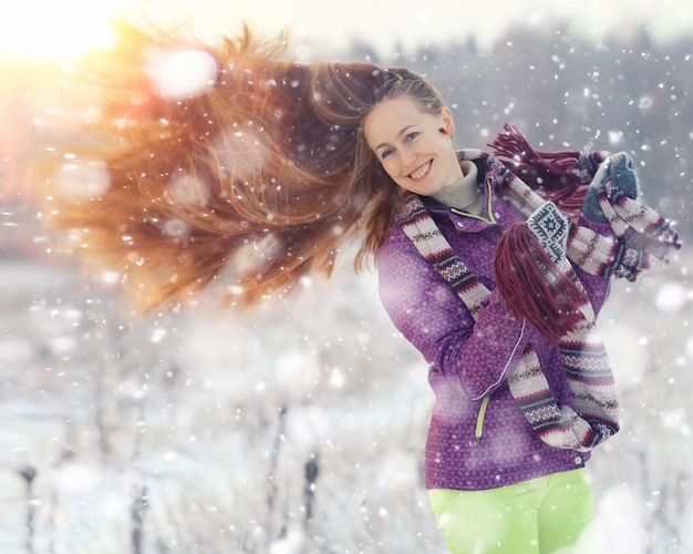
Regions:
M 394 226 L 379 258 L 380 295 L 396 328 L 430 365 L 435 403 L 426 441 L 428 489 L 484 490 L 581 468 L 589 453 L 549 447 L 532 432 L 506 377 L 531 341 L 559 402 L 570 392 L 559 348 L 513 319 L 496 290 L 493 257 L 521 215 L 494 194 L 496 224 L 456 215 L 424 198 L 453 249 L 492 290 L 475 324 L 462 300 Z M 587 220 L 580 224 L 588 225 Z M 608 233 L 608 226 L 589 223 Z M 609 281 L 576 269 L 596 312 Z

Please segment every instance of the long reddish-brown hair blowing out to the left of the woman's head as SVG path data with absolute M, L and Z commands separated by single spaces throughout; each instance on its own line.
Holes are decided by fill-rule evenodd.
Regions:
M 213 54 L 216 81 L 166 98 L 151 60 L 184 49 Z M 184 301 L 217 276 L 232 305 L 251 306 L 304 275 L 329 276 L 346 239 L 363 236 L 359 266 L 387 237 L 400 192 L 363 120 L 404 94 L 437 113 L 438 93 L 406 70 L 285 53 L 282 37 L 262 42 L 247 28 L 216 49 L 130 29 L 89 68 L 101 115 L 93 144 L 72 155 L 105 167 L 108 186 L 77 201 L 56 189 L 50 224 L 69 232 L 68 250 L 117 275 L 141 310 Z

